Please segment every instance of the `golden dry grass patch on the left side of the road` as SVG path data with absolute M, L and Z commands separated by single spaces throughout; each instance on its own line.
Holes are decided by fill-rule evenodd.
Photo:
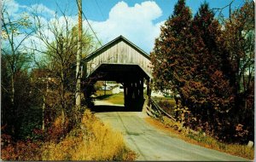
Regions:
M 44 146 L 43 160 L 134 160 L 136 153 L 125 147 L 123 136 L 85 111 L 80 128 L 61 142 Z

